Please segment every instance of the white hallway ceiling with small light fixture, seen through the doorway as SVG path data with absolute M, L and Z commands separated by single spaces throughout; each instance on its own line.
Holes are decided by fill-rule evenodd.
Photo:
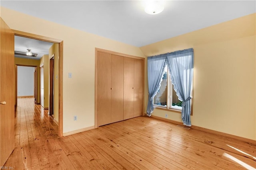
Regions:
M 52 45 L 53 43 L 46 41 L 40 41 L 15 35 L 14 51 L 27 52 L 27 49 L 31 49 L 32 53 L 36 53 L 38 55 L 36 57 L 15 55 L 14 57 L 40 60 L 43 55 L 49 54 L 49 49 L 52 47 Z

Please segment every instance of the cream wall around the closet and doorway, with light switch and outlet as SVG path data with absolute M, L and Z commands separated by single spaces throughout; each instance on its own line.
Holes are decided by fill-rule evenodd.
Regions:
M 63 40 L 64 133 L 94 126 L 95 47 L 144 57 L 138 47 L 4 7 L 1 17 L 11 29 Z M 68 72 L 72 72 L 72 78 L 68 78 Z M 73 121 L 74 115 L 77 121 Z

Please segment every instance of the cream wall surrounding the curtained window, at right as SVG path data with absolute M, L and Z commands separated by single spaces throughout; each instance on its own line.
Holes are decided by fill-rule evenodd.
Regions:
M 194 48 L 192 125 L 255 140 L 255 35 L 252 14 L 140 49 L 152 56 Z M 152 113 L 165 114 L 181 121 L 180 113 L 159 109 Z

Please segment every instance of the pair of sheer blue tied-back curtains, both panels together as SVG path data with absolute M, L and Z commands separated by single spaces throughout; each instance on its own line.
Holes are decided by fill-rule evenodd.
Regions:
M 147 115 L 151 116 L 154 110 L 153 100 L 164 74 L 164 67 L 168 65 L 174 90 L 180 101 L 182 101 L 181 118 L 183 124 L 191 126 L 190 92 L 193 79 L 194 50 L 185 49 L 148 57 L 148 107 Z

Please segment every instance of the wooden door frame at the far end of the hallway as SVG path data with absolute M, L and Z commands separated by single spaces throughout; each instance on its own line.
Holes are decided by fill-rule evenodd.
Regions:
M 38 66 L 34 66 L 34 65 L 26 65 L 26 64 L 15 64 L 15 108 L 17 108 L 17 104 L 18 104 L 18 66 L 25 66 L 25 67 L 34 67 L 35 71 L 34 71 L 34 98 L 35 98 L 35 104 L 38 104 L 37 101 L 37 96 L 40 95 L 38 94 L 38 88 L 37 88 L 37 84 L 38 84 L 38 80 L 37 80 L 37 71 L 38 71 Z

